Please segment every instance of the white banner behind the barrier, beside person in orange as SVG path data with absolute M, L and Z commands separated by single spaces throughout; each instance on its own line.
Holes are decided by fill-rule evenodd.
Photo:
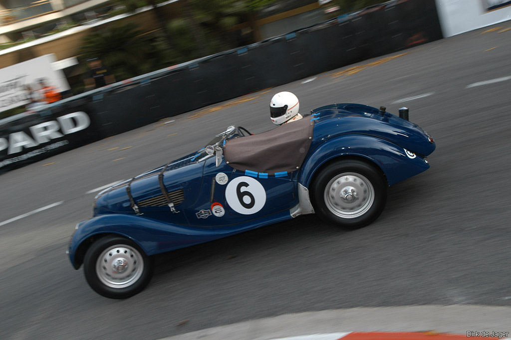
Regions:
M 68 90 L 62 70 L 52 67 L 55 61 L 54 54 L 47 54 L 0 69 L 0 112 L 29 104 L 41 88 L 41 79 L 58 92 Z

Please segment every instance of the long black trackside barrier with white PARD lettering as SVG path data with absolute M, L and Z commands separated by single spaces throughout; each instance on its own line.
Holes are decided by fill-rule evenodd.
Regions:
M 162 118 L 441 38 L 434 0 L 396 0 L 116 83 L 0 123 L 0 172 Z

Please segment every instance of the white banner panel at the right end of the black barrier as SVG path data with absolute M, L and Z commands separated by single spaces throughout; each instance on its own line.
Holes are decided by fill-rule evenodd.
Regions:
M 444 37 L 511 20 L 511 0 L 436 0 Z

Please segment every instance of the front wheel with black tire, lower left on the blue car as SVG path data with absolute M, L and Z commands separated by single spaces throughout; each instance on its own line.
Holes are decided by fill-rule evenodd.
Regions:
M 88 248 L 83 271 L 97 293 L 110 299 L 126 299 L 147 286 L 153 275 L 153 262 L 135 242 L 105 236 Z

